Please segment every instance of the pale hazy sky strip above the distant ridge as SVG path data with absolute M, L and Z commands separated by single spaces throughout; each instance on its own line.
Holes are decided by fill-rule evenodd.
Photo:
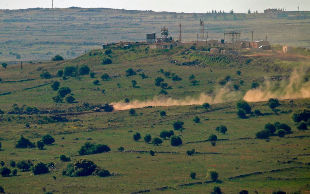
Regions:
M 310 0 L 53 0 L 54 7 L 107 7 L 129 10 L 153 10 L 172 12 L 197 12 L 233 9 L 237 13 L 268 8 L 310 10 Z M 52 7 L 52 0 L 0 0 L 0 9 Z

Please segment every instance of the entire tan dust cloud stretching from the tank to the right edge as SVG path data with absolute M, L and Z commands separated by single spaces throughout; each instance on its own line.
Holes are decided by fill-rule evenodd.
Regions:
M 264 84 L 259 88 L 251 89 L 243 96 L 240 91 L 232 89 L 232 83 L 227 83 L 222 88 L 217 88 L 213 95 L 201 93 L 199 97 L 185 97 L 183 100 L 177 100 L 170 97 L 159 96 L 153 100 L 132 102 L 113 102 L 114 110 L 127 110 L 131 108 L 142 108 L 145 106 L 185 106 L 201 105 L 208 102 L 209 104 L 231 102 L 243 100 L 247 102 L 268 101 L 269 98 L 278 99 L 296 99 L 310 97 L 310 81 L 305 81 L 306 69 L 294 69 L 289 81 L 281 81 L 279 84 L 270 82 L 267 78 Z

